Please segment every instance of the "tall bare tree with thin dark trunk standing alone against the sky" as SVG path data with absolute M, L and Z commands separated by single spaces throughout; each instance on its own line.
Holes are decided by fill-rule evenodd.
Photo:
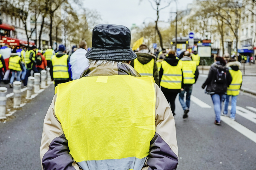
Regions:
M 141 2 L 141 1 L 143 1 L 143 0 L 140 0 L 140 2 Z M 171 1 L 171 0 L 168 0 L 168 1 L 165 3 L 165 6 L 163 6 L 162 8 L 160 8 L 161 0 L 148 0 L 148 2 L 150 3 L 151 7 L 157 12 L 157 20 L 155 21 L 155 23 L 156 23 L 155 28 L 156 28 L 156 30 L 157 30 L 157 34 L 158 34 L 159 39 L 160 39 L 160 46 L 161 46 L 161 48 L 163 49 L 163 38 L 162 38 L 162 34 L 161 34 L 161 32 L 160 32 L 160 30 L 159 30 L 159 27 L 158 27 L 158 21 L 159 21 L 159 15 L 160 15 L 159 12 L 160 12 L 162 9 L 165 9 L 165 8 L 169 7 L 172 1 Z M 165 2 L 165 1 L 163 1 L 163 3 L 164 3 L 164 2 Z M 153 5 L 153 3 L 154 3 L 154 5 Z

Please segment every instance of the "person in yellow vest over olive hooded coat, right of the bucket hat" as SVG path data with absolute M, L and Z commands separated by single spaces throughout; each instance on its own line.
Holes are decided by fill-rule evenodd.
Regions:
M 142 77 L 153 76 L 156 84 L 159 86 L 159 73 L 157 70 L 157 57 L 149 53 L 148 46 L 145 44 L 140 45 L 138 56 L 135 60 L 131 61 L 130 65 L 138 71 Z

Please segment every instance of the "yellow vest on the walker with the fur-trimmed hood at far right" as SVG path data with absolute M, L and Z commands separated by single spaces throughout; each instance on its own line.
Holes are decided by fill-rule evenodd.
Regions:
M 243 81 L 242 72 L 240 70 L 229 70 L 232 76 L 232 82 L 227 88 L 227 95 L 237 96 L 240 93 L 241 83 Z

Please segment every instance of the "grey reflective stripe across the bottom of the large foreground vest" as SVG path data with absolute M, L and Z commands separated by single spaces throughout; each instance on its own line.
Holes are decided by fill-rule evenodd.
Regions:
M 136 157 L 129 157 L 123 159 L 110 159 L 99 161 L 82 161 L 77 162 L 78 166 L 83 170 L 109 170 L 109 169 L 122 169 L 122 170 L 141 170 L 144 166 L 146 158 L 138 159 Z

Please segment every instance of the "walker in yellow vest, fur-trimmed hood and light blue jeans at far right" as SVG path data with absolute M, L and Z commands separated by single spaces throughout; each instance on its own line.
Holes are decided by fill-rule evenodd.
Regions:
M 227 116 L 227 109 L 228 109 L 228 103 L 229 98 L 232 96 L 231 99 L 231 112 L 230 112 L 230 118 L 232 120 L 235 120 L 235 113 L 236 113 L 236 101 L 237 96 L 240 93 L 240 88 L 242 86 L 243 77 L 242 72 L 239 70 L 239 67 L 241 66 L 241 63 L 236 60 L 230 60 L 229 63 L 227 63 L 227 67 L 229 68 L 229 73 L 232 77 L 232 82 L 227 88 L 227 95 L 225 98 L 225 104 L 224 104 L 224 112 L 222 113 L 223 116 Z

